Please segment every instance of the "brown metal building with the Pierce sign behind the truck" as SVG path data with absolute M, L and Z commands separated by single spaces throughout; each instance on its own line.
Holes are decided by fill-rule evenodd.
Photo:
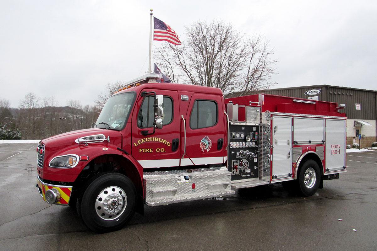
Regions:
M 371 146 L 377 141 L 377 91 L 332 85 L 311 85 L 303 87 L 267 89 L 250 94 L 266 93 L 279 96 L 313 99 L 345 104 L 342 113 L 347 114 L 347 144 L 355 140 L 361 147 Z

